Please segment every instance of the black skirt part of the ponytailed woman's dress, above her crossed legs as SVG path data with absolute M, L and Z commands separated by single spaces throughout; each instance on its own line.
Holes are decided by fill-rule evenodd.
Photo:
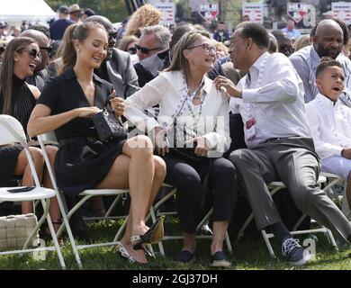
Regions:
M 58 188 L 70 197 L 86 189 L 94 189 L 110 171 L 124 143 L 125 140 L 77 141 L 58 148 L 55 159 Z

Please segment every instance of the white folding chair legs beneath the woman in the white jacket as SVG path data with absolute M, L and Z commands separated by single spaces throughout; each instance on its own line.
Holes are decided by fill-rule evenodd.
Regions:
M 169 193 L 167 193 L 163 198 L 161 198 L 158 202 L 156 202 L 154 205 L 151 206 L 150 208 L 150 212 L 148 213 L 148 216 L 146 217 L 146 220 L 148 220 L 150 217 L 153 221 L 153 223 L 156 222 L 157 220 L 157 216 L 161 216 L 161 215 L 176 215 L 176 211 L 171 211 L 171 212 L 160 212 L 160 213 L 157 213 L 156 215 L 156 211 L 157 209 L 159 208 L 159 206 L 161 206 L 164 202 L 166 202 L 168 199 L 170 198 L 173 198 L 175 197 L 175 193 L 176 193 L 176 188 L 172 185 L 169 185 L 169 184 L 162 184 L 164 187 L 169 187 L 171 188 L 171 191 Z M 202 220 L 200 221 L 200 223 L 197 225 L 196 227 L 196 232 L 198 232 L 201 228 L 202 228 L 202 225 L 210 219 L 211 217 L 211 214 L 213 213 L 213 208 L 211 208 L 210 211 L 207 212 L 207 214 L 202 218 Z M 212 238 L 212 235 L 196 235 L 196 238 Z M 165 241 L 165 240 L 175 240 L 175 239 L 183 239 L 183 236 L 182 235 L 178 235 L 178 236 L 169 236 L 169 235 L 165 235 L 163 238 L 162 238 L 162 241 L 160 241 L 158 243 L 158 247 L 159 247 L 159 251 L 160 253 L 165 256 L 165 249 L 163 247 L 163 244 L 162 242 Z M 226 237 L 225 237 L 225 240 L 226 240 L 226 244 L 227 244 L 227 247 L 228 247 L 228 250 L 229 252 L 232 252 L 232 247 L 231 247 L 231 243 L 230 243 L 230 239 L 229 239 L 229 234 L 228 232 L 226 232 Z

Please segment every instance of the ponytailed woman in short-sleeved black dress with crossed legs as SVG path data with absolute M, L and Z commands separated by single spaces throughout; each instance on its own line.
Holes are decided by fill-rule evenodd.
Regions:
M 101 24 L 76 27 L 74 40 L 62 53 L 62 72 L 45 86 L 31 113 L 28 132 L 33 136 L 55 130 L 58 187 L 68 196 L 92 188 L 130 188 L 130 217 L 120 252 L 131 262 L 147 263 L 144 251 L 136 248 L 140 247 L 139 236 L 148 231 L 144 218 L 163 183 L 166 165 L 153 156 L 152 144 L 145 136 L 108 142 L 96 138 L 91 116 L 101 111 L 112 94 L 112 85 L 94 75 L 94 68 L 106 57 L 107 46 Z M 123 100 L 114 97 L 111 103 L 115 115 L 121 116 Z M 141 237 L 141 242 L 147 240 Z

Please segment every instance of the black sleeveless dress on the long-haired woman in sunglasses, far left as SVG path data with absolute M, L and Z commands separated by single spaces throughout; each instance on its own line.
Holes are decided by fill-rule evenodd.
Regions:
M 11 94 L 11 116 L 14 116 L 27 131 L 27 124 L 31 116 L 31 111 L 36 100 L 24 80 L 13 76 L 13 89 Z M 0 112 L 3 113 L 4 98 L 0 91 Z M 0 185 L 7 186 L 14 176 L 14 169 L 17 166 L 17 159 L 23 147 L 21 145 L 6 146 L 0 148 Z

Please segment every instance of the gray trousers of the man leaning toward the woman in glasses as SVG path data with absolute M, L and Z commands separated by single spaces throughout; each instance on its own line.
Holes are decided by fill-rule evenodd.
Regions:
M 251 205 L 257 229 L 282 221 L 266 187 L 266 183 L 282 181 L 303 213 L 347 243 L 350 222 L 317 185 L 320 160 L 312 139 L 269 139 L 255 148 L 233 151 L 229 159 L 237 167 L 238 184 Z

